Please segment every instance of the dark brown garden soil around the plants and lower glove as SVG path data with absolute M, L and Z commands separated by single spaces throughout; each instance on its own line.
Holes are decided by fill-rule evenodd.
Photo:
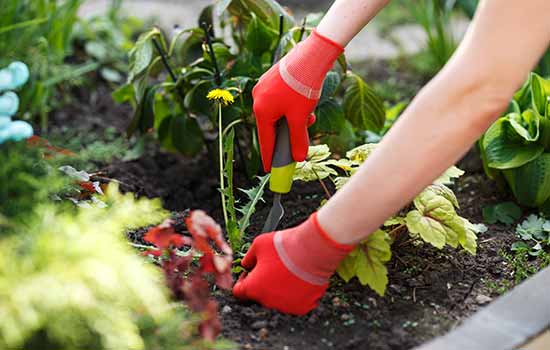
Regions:
M 122 132 L 131 109 L 115 105 L 108 91 L 100 86 L 91 96 L 85 91 L 75 93 L 74 104 L 52 115 L 53 128 L 97 131 L 113 126 Z M 137 160 L 116 160 L 100 171 L 120 181 L 127 191 L 160 197 L 176 216 L 200 208 L 221 221 L 216 170 L 209 164 L 205 155 L 189 159 L 155 148 Z M 239 182 L 237 187 L 247 187 Z M 461 215 L 475 223 L 482 222 L 484 205 L 507 199 L 481 173 L 463 176 L 454 190 Z M 265 197 L 266 203 L 260 203 L 253 216 L 251 233 L 260 231 L 267 216 L 271 198 Z M 284 198 L 286 215 L 281 226 L 302 222 L 323 198 L 319 184 L 296 183 Z M 129 237 L 140 241 L 143 232 Z M 402 245 L 388 264 L 390 282 L 384 297 L 357 280 L 344 284 L 335 277 L 319 307 L 304 317 L 283 315 L 216 292 L 223 336 L 243 349 L 409 349 L 446 333 L 487 302 L 486 297 L 498 295 L 494 286 L 512 280 L 511 267 L 499 252 L 513 241 L 513 229 L 490 225 L 479 235 L 476 256 L 429 245 Z

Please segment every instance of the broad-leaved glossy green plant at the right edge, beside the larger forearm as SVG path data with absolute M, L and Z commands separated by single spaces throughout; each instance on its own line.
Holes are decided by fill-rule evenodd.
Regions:
M 478 142 L 486 174 L 505 182 L 519 204 L 550 205 L 550 80 L 532 73 L 508 112 Z

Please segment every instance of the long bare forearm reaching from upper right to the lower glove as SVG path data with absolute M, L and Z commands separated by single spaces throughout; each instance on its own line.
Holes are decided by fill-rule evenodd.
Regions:
M 548 45 L 547 0 L 487 0 L 479 12 L 447 66 L 320 210 L 321 226 L 338 242 L 364 239 L 456 162 Z

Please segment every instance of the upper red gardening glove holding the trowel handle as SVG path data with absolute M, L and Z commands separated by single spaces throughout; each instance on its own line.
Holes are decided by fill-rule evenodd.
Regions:
M 286 117 L 292 157 L 301 162 L 309 146 L 307 127 L 321 97 L 325 76 L 344 49 L 317 31 L 260 77 L 252 90 L 262 162 L 271 171 L 276 122 Z

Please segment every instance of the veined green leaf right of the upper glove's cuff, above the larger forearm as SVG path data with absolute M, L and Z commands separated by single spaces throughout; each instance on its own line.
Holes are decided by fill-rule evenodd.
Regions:
M 351 83 L 344 94 L 344 113 L 351 124 L 361 130 L 379 132 L 384 127 L 384 104 L 363 79 L 348 73 Z

